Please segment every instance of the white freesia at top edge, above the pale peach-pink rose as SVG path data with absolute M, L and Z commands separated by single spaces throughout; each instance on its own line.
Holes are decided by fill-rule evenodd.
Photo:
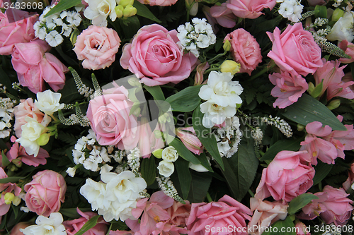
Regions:
M 92 20 L 93 25 L 107 26 L 107 17 L 115 21 L 115 0 L 85 0 L 89 6 L 84 11 L 84 16 Z

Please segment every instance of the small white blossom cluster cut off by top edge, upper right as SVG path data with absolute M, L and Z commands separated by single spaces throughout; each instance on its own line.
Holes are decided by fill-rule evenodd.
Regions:
M 300 0 L 301 1 L 301 0 Z M 304 6 L 297 0 L 277 0 L 280 3 L 278 13 L 292 22 L 298 22 L 301 19 L 301 13 Z

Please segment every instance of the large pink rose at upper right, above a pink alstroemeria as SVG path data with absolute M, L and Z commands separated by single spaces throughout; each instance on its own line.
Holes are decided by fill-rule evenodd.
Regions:
M 288 25 L 280 34 L 279 28 L 267 32 L 273 42 L 268 57 L 273 59 L 282 71 L 307 76 L 323 65 L 321 48 L 314 42 L 311 32 L 302 28 L 302 23 Z

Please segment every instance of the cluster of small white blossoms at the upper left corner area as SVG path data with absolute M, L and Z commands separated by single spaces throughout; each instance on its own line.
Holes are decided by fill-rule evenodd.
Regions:
M 80 25 L 81 16 L 77 11 L 62 11 L 44 17 L 54 6 L 47 6 L 40 15 L 40 20 L 33 25 L 35 37 L 45 40 L 51 47 L 57 47 Z

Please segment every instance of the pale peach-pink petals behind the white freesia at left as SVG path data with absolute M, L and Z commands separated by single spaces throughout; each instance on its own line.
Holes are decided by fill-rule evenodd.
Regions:
M 40 112 L 40 109 L 35 106 L 32 98 L 21 100 L 21 103 L 13 108 L 13 114 L 15 114 L 15 125 L 13 126 L 13 130 L 16 132 L 18 138 L 21 138 L 21 126 L 27 123 L 25 117 L 29 116 L 41 123 L 45 116 L 45 114 Z

